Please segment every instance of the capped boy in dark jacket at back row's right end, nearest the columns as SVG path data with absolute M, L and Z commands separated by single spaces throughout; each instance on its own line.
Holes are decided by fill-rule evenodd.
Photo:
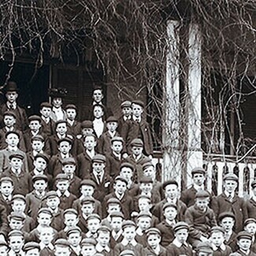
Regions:
M 143 141 L 143 153 L 151 158 L 153 154 L 153 141 L 150 125 L 143 118 L 144 103 L 139 100 L 132 101 L 132 119 L 124 124 L 121 136 L 126 142 L 126 147 L 131 147 L 132 140 L 140 138 Z

